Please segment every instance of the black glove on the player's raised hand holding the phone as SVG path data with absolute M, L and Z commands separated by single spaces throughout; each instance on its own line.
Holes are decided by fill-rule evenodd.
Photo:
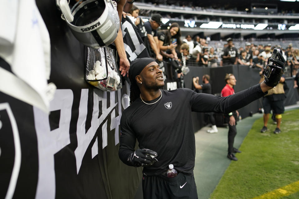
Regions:
M 272 64 L 269 64 L 269 61 L 273 62 Z M 274 65 L 275 64 L 275 65 Z M 278 58 L 273 59 L 269 58 L 268 59 L 268 64 L 265 69 L 265 84 L 267 86 L 274 87 L 278 84 L 285 68 L 285 60 L 282 57 L 282 54 L 278 52 Z

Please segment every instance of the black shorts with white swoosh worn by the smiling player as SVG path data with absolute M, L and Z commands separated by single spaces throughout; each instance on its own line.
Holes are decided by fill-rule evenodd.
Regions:
M 194 176 L 183 173 L 174 178 L 143 175 L 142 189 L 144 199 L 198 198 Z

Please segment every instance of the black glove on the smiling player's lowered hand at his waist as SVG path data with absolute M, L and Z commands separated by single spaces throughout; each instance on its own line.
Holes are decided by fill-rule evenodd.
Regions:
M 145 167 L 149 164 L 154 164 L 157 162 L 158 160 L 155 158 L 157 155 L 157 152 L 150 149 L 137 149 L 131 154 L 130 161 L 135 167 Z

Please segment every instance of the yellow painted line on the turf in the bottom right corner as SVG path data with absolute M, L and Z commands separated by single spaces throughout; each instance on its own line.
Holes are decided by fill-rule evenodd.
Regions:
M 287 186 L 265 193 L 253 199 L 278 199 L 284 196 L 289 196 L 299 191 L 299 181 L 288 184 Z

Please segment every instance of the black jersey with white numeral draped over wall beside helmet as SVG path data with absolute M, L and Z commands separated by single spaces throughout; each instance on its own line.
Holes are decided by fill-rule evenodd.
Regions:
M 136 26 L 129 18 L 121 18 L 121 30 L 122 35 L 124 35 L 126 55 L 130 63 L 136 58 L 150 57 L 138 30 L 136 30 Z

